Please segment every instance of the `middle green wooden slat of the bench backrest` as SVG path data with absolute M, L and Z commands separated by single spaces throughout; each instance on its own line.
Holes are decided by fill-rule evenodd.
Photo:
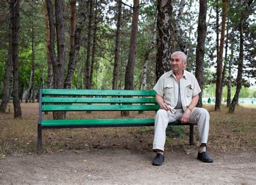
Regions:
M 43 97 L 42 103 L 156 103 L 156 98 Z

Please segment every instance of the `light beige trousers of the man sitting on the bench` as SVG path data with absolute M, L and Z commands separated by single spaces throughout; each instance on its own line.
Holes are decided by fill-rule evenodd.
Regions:
M 154 120 L 154 141 L 153 150 L 159 149 L 164 151 L 165 145 L 165 130 L 168 123 L 179 120 L 183 115 L 183 109 L 176 109 L 175 113 L 159 109 L 156 113 Z M 208 132 L 209 132 L 209 120 L 210 115 L 206 109 L 194 108 L 190 115 L 190 123 L 197 123 L 199 145 L 201 143 L 207 144 Z

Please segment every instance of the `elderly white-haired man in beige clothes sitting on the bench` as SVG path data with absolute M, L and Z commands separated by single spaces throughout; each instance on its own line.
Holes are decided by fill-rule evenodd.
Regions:
M 156 101 L 160 109 L 154 122 L 153 151 L 157 153 L 152 165 L 160 166 L 164 162 L 165 130 L 170 122 L 197 123 L 199 134 L 199 152 L 197 159 L 213 162 L 206 152 L 209 131 L 209 113 L 206 109 L 196 108 L 198 94 L 201 92 L 196 77 L 184 70 L 186 55 L 174 52 L 171 56 L 170 72 L 163 74 L 154 86 Z

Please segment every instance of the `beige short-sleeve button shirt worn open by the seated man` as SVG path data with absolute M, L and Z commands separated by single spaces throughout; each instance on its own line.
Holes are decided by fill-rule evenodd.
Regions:
M 163 74 L 153 89 L 158 95 L 164 98 L 164 102 L 174 108 L 178 102 L 178 88 L 179 84 L 173 71 Z M 184 70 L 183 76 L 180 78 L 180 96 L 183 110 L 190 105 L 193 96 L 201 92 L 196 77 Z

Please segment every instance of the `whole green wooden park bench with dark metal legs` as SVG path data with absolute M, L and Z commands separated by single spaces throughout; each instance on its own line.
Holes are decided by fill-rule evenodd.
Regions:
M 49 111 L 157 111 L 154 90 L 92 90 L 40 89 L 38 120 L 38 154 L 42 152 L 42 129 L 79 127 L 154 126 L 153 118 L 123 119 L 62 119 L 42 120 Z M 193 145 L 193 126 L 173 122 L 169 125 L 190 125 L 190 145 Z

